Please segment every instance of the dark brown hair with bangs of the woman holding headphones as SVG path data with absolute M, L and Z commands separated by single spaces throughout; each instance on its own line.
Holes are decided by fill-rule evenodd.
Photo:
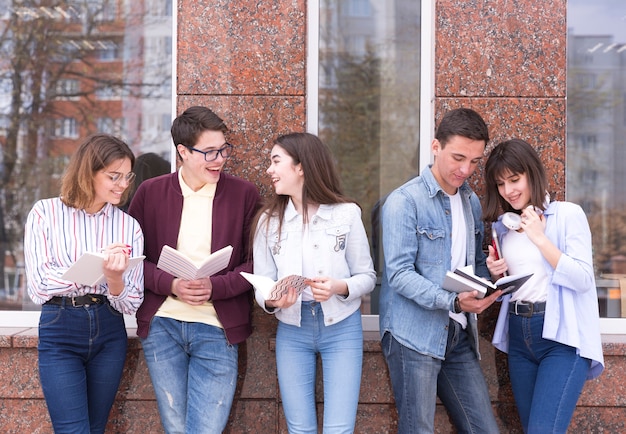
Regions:
M 526 174 L 530 188 L 531 205 L 545 210 L 548 178 L 537 151 L 522 139 L 511 139 L 496 145 L 485 163 L 485 207 L 486 221 L 498 219 L 501 210 L 514 211 L 511 205 L 498 192 L 498 178 L 511 172 L 514 175 Z

